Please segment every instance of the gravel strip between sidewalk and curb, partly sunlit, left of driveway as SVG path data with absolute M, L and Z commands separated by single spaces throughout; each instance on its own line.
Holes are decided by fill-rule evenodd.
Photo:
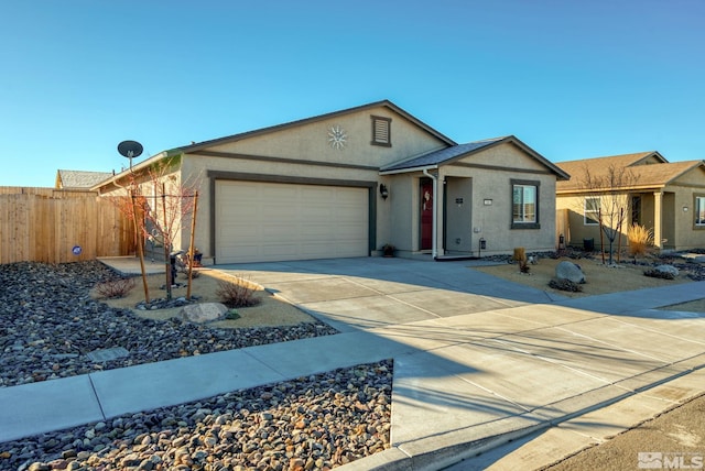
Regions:
M 326 470 L 390 446 L 392 363 L 0 443 L 0 469 Z

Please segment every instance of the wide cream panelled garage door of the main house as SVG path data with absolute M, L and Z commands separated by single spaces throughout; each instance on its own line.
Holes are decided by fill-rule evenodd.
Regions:
M 216 263 L 368 255 L 368 189 L 216 183 Z

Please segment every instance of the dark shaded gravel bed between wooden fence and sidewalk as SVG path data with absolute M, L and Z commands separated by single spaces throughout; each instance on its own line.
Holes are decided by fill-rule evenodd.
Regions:
M 0 265 L 0 387 L 337 333 L 319 321 L 232 330 L 144 319 L 89 296 L 96 283 L 118 276 L 100 262 Z M 88 357 L 118 347 L 130 354 Z

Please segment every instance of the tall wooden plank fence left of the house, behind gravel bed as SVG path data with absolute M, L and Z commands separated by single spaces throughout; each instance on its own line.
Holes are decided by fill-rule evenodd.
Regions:
M 77 262 L 133 251 L 132 224 L 95 191 L 0 187 L 0 264 Z

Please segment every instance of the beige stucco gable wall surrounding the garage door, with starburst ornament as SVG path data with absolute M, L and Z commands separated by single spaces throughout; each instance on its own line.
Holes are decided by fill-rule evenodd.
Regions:
M 371 145 L 371 117 L 391 118 L 392 146 Z M 343 128 L 347 134 L 346 145 L 341 150 L 333 149 L 328 143 L 328 129 Z M 315 121 L 301 127 L 284 128 L 267 134 L 253 135 L 237 142 L 209 147 L 232 156 L 210 156 L 204 153 L 186 154 L 183 158 L 183 173 L 192 180 L 200 182 L 196 243 L 205 256 L 212 256 L 210 229 L 212 186 L 215 182 L 209 172 L 238 173 L 250 175 L 271 175 L 273 180 L 281 177 L 300 179 L 319 179 L 330 184 L 366 182 L 375 184 L 373 198 L 377 199 L 375 249 L 384 243 L 410 245 L 410 241 L 398 240 L 392 228 L 408 228 L 411 212 L 392 211 L 394 204 L 404 200 L 402 186 L 392 183 L 392 177 L 379 175 L 379 167 L 443 149 L 445 144 L 436 136 L 425 132 L 405 118 L 380 107 L 358 113 L 345 114 L 328 120 Z M 242 158 L 242 156 L 249 156 Z M 264 157 L 264 158 L 258 158 Z M 274 157 L 275 160 L 268 160 Z M 247 175 L 243 176 L 247 178 Z M 390 187 L 390 197 L 381 198 L 377 185 L 384 183 Z M 406 199 L 408 200 L 408 199 Z M 186 240 L 186 239 L 184 239 Z

